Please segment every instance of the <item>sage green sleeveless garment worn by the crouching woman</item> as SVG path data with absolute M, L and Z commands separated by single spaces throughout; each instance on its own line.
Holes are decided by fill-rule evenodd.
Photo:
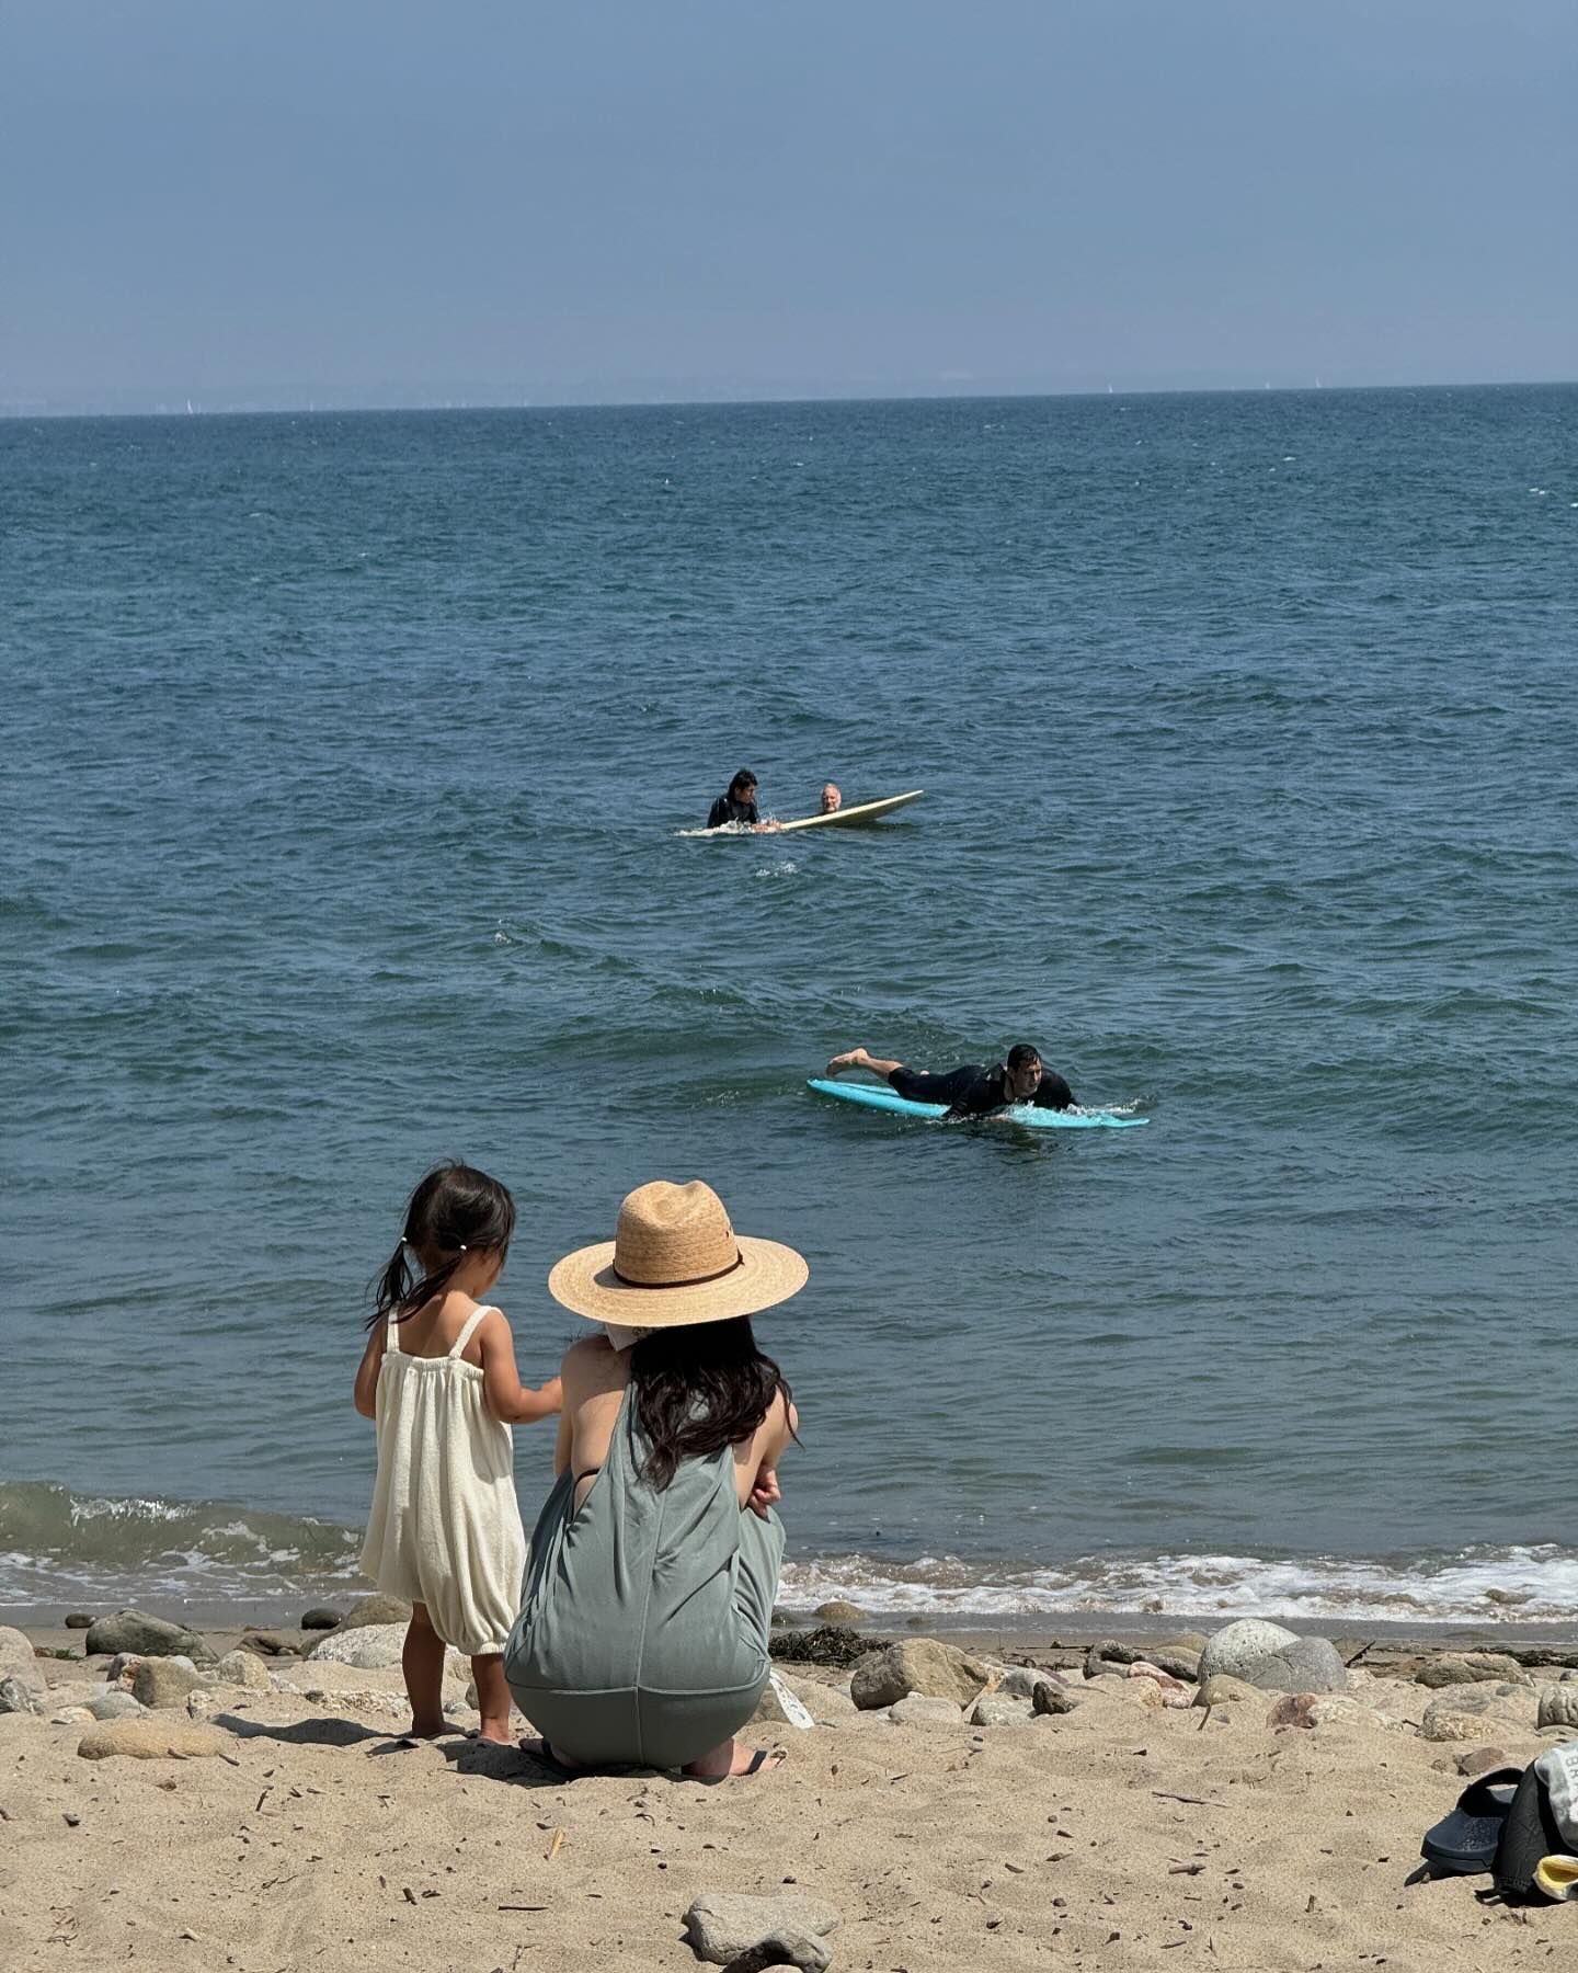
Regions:
M 580 1766 L 682 1768 L 755 1713 L 771 1661 L 783 1525 L 740 1505 L 734 1452 L 649 1486 L 629 1391 L 574 1507 L 564 1472 L 537 1519 L 505 1645 L 515 1703 Z

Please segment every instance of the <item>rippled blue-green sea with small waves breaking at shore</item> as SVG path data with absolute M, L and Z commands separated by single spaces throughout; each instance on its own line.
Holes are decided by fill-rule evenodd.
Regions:
M 1578 389 L 10 422 L 0 596 L 0 1600 L 343 1565 L 442 1154 L 529 1377 L 809 1255 L 805 1596 L 1578 1598 Z M 1020 1038 L 1150 1127 L 801 1087 Z

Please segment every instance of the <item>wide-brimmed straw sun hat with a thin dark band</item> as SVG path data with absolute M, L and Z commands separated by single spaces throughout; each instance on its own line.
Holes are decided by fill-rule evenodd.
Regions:
M 700 1178 L 655 1178 L 625 1198 L 611 1241 L 564 1255 L 548 1294 L 594 1322 L 677 1330 L 787 1302 L 809 1273 L 793 1247 L 738 1235 Z

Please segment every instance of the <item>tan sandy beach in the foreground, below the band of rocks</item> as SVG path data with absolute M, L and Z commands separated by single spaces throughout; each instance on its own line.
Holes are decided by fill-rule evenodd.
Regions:
M 1404 1884 L 1462 1756 L 1489 1742 L 1525 1762 L 1572 1732 L 1535 1726 L 1556 1667 L 1452 1687 L 1450 1703 L 1491 1695 L 1483 1730 L 1432 1740 L 1444 1689 L 1406 1653 L 1351 1669 L 1314 1726 L 1272 1724 L 1272 1691 L 1164 1705 L 1150 1675 L 1073 1663 L 1063 1715 L 972 1724 L 933 1699 L 939 1717 L 896 1724 L 856 1711 L 846 1675 L 787 1665 L 817 1724 L 763 1720 L 752 1738 L 783 1744 L 785 1766 L 720 1788 L 560 1782 L 462 1736 L 462 1677 L 456 1736 L 402 1744 L 398 1669 L 290 1655 L 258 1659 L 252 1689 L 203 1685 L 134 1722 L 219 1752 L 93 1760 L 103 1728 L 71 1709 L 105 1669 L 39 1657 L 41 1711 L 0 1715 L 10 1973 L 684 1969 L 682 1914 L 716 1892 L 809 1900 L 840 1920 L 834 1967 L 907 1973 L 1470 1973 L 1578 1947 L 1564 1906 L 1479 1904 L 1487 1878 Z

